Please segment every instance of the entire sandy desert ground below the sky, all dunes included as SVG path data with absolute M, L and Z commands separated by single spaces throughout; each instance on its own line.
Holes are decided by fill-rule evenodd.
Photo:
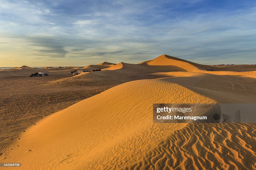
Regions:
M 101 71 L 71 74 L 82 68 Z M 40 71 L 50 76 L 29 77 Z M 0 80 L 0 162 L 22 163 L 6 169 L 256 169 L 255 124 L 152 120 L 153 103 L 256 103 L 254 65 L 162 55 L 23 66 L 0 70 Z

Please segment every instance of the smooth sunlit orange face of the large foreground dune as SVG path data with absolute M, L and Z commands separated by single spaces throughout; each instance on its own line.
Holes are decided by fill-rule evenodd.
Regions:
M 37 122 L 6 160 L 22 162 L 20 169 L 88 169 L 92 161 L 95 169 L 131 166 L 186 125 L 153 124 L 153 103 L 212 102 L 166 80 L 127 82 Z

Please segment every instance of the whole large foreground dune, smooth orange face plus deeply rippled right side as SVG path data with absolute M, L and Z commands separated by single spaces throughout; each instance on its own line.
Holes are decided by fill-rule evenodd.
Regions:
M 254 125 L 152 123 L 152 103 L 217 102 L 174 81 L 178 80 L 161 78 L 124 83 L 52 114 L 21 135 L 6 160 L 22 161 L 23 169 L 254 166 L 254 161 L 246 157 L 255 156 L 255 146 L 244 150 L 244 143 L 256 140 Z M 229 89 L 228 93 L 233 92 Z M 238 95 L 237 101 L 241 101 L 242 95 Z M 222 97 L 219 96 L 219 102 Z

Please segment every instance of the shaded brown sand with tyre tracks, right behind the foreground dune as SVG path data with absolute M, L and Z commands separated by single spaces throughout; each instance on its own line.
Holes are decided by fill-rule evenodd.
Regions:
M 168 79 L 219 103 L 256 103 L 256 84 L 253 78 L 193 72 L 166 72 L 160 75 L 168 76 L 170 78 L 163 79 Z

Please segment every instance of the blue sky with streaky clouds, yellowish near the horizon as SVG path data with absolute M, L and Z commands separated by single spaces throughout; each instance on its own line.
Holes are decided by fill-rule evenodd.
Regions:
M 0 0 L 0 67 L 256 64 L 255 18 L 255 0 Z

